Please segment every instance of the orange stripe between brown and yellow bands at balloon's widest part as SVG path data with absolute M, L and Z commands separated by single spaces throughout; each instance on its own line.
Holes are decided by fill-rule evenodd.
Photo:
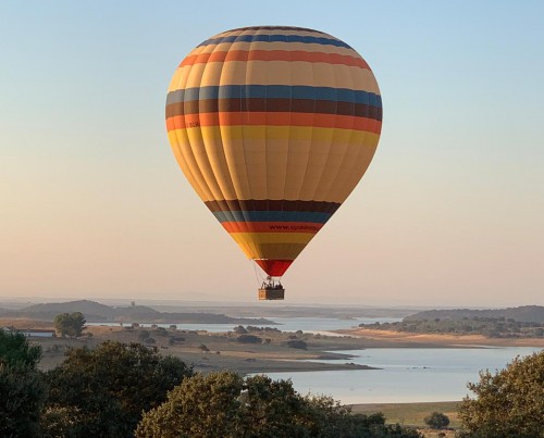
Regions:
M 351 115 L 280 112 L 218 112 L 176 115 L 166 118 L 166 129 L 184 129 L 199 126 L 310 126 L 364 130 L 380 134 L 382 122 Z

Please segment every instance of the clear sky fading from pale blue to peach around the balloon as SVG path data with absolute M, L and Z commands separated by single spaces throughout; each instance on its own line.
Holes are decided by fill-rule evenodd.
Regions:
M 0 298 L 257 302 L 171 152 L 166 88 L 223 30 L 329 33 L 384 107 L 285 304 L 544 305 L 544 2 L 0 2 Z

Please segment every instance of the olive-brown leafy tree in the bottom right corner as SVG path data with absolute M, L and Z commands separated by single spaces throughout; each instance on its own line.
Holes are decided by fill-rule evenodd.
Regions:
M 459 418 L 467 437 L 544 437 L 544 351 L 516 358 L 506 368 L 480 372 L 469 384 Z

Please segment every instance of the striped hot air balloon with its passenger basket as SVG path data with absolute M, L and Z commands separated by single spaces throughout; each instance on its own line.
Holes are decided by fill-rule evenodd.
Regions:
M 356 187 L 372 160 L 382 100 L 367 62 L 322 32 L 227 30 L 178 65 L 166 129 L 200 199 L 267 274 L 260 299 Z

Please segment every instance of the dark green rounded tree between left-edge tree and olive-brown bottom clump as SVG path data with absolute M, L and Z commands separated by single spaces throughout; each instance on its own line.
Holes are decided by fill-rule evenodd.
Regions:
M 77 416 L 69 436 L 131 437 L 141 412 L 161 404 L 166 392 L 191 374 L 177 358 L 139 343 L 107 341 L 95 350 L 71 349 L 64 362 L 47 373 L 51 422 L 45 428 L 66 428 L 63 412 L 70 410 Z

